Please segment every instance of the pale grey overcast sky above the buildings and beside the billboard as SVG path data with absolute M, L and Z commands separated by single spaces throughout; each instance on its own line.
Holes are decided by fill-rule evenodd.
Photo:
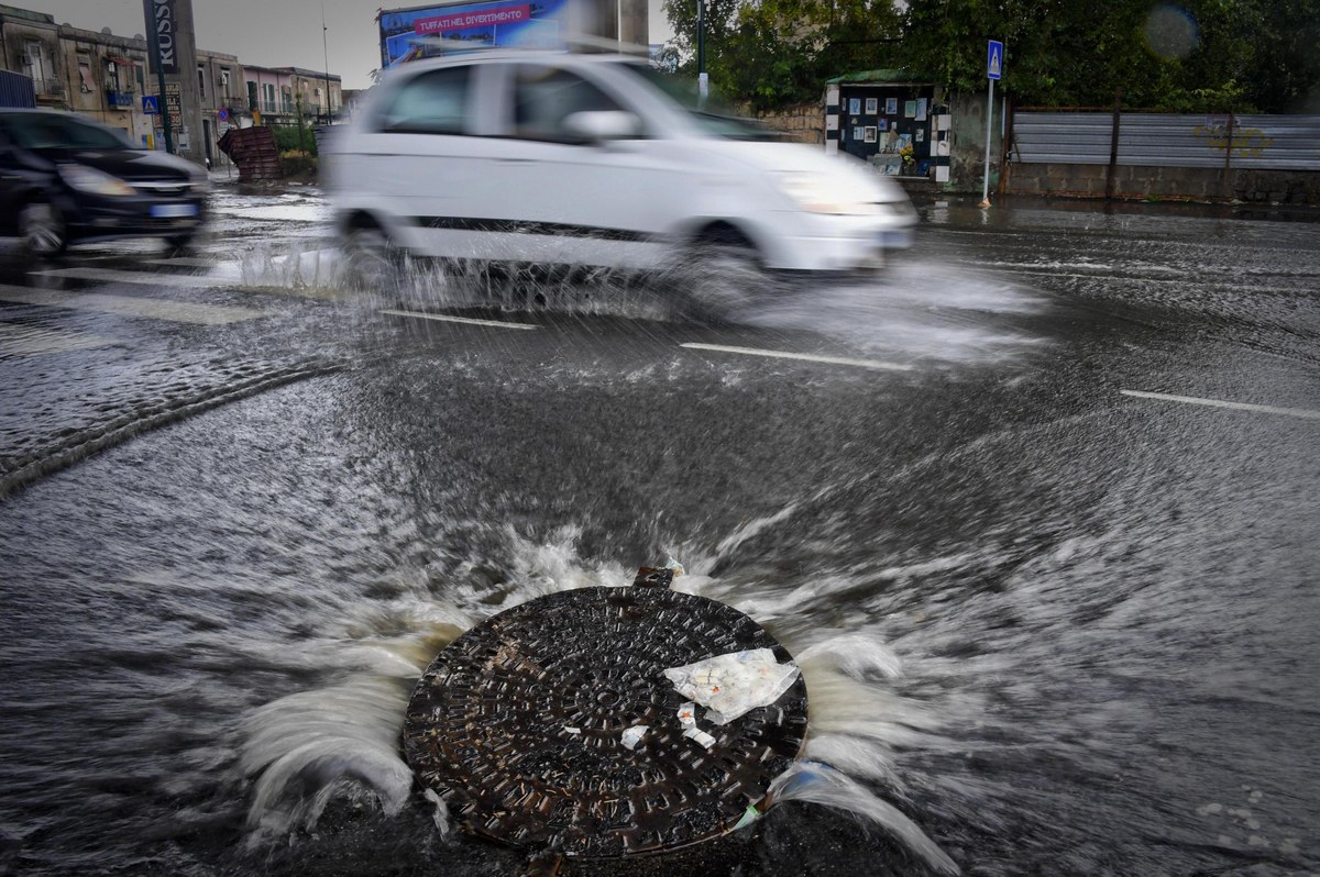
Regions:
M 46 12 L 59 24 L 116 36 L 145 33 L 141 0 L 5 0 Z M 376 9 L 426 5 L 428 0 L 193 0 L 199 49 L 226 51 L 264 67 L 306 67 L 338 74 L 345 88 L 366 88 L 380 66 Z M 668 33 L 659 0 L 651 1 L 651 42 Z M 325 42 L 321 12 L 325 9 Z

